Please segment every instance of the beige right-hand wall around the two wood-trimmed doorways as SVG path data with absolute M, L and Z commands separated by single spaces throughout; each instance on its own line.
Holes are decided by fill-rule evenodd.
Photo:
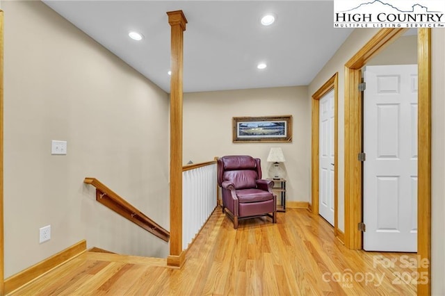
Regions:
M 339 72 L 339 228 L 344 229 L 344 64 L 378 29 L 356 29 L 309 85 L 313 94 L 335 72 Z M 408 41 L 409 42 L 409 41 Z M 395 45 L 397 46 L 397 44 Z M 390 47 L 389 47 L 390 49 Z M 445 31 L 432 34 L 432 295 L 445 295 Z M 405 52 L 407 54 L 407 52 Z M 382 51 L 382 55 L 394 55 Z M 412 54 L 407 54 L 412 56 Z M 405 56 L 403 59 L 407 57 Z M 395 58 L 394 60 L 399 60 Z M 411 62 L 410 62 L 411 63 Z

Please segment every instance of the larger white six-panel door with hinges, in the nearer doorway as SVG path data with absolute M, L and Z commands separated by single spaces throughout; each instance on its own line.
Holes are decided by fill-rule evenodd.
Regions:
M 417 250 L 417 65 L 364 72 L 366 251 Z

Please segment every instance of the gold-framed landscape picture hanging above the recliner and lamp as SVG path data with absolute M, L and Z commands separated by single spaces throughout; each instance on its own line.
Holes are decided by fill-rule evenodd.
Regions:
M 292 142 L 292 115 L 233 117 L 233 142 Z

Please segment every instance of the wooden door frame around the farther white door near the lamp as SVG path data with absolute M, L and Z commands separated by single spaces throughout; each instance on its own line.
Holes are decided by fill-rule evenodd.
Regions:
M 338 217 L 338 153 L 339 153 L 339 73 L 335 73 L 325 82 L 314 94 L 312 94 L 312 199 L 310 208 L 312 213 L 318 215 L 319 210 L 319 179 L 320 179 L 320 99 L 330 90 L 334 90 L 334 234 L 338 235 L 339 217 Z

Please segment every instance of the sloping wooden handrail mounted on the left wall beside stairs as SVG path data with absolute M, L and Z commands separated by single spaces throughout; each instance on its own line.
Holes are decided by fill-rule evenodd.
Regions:
M 122 217 L 127 218 L 134 224 L 137 224 L 146 231 L 153 233 L 158 238 L 168 242 L 170 232 L 163 229 L 159 224 L 151 220 L 144 213 L 129 204 L 125 199 L 116 194 L 113 190 L 106 187 L 103 183 L 95 178 L 85 178 L 83 183 L 90 184 L 96 188 L 96 200 L 104 206 L 115 211 Z

